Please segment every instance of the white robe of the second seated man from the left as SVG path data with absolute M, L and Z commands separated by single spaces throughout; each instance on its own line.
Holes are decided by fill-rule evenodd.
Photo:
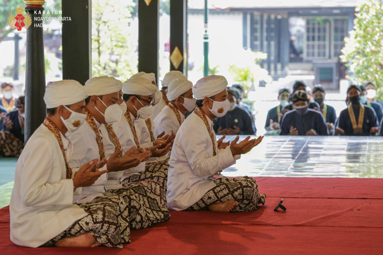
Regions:
M 94 119 L 94 121 L 98 127 L 98 130 L 100 131 L 101 124 L 98 123 L 96 119 Z M 106 134 L 104 134 L 104 132 L 100 132 L 100 136 L 101 141 L 104 144 L 105 158 L 109 159 L 109 157 L 107 157 L 107 152 L 110 151 L 112 148 L 114 152 L 115 147 L 110 141 L 110 137 L 107 131 Z M 85 163 L 88 163 L 93 159 L 100 160 L 96 134 L 93 131 L 92 127 L 90 127 L 88 122 L 82 124 L 76 132 L 68 134 L 67 137 L 73 144 L 73 154 L 68 160 L 69 166 L 72 167 L 73 174 L 77 172 L 80 169 L 80 167 L 82 167 L 82 165 L 84 165 Z M 105 169 L 106 164 L 99 170 Z M 109 173 L 104 173 L 97 179 L 97 181 L 92 186 L 83 187 L 81 193 L 75 192 L 73 196 L 73 201 L 77 203 L 91 201 L 98 196 L 103 196 L 102 193 L 104 193 L 109 188 L 118 188 L 118 186 L 107 187 L 108 184 L 115 185 L 114 182 L 108 183 L 108 175 Z

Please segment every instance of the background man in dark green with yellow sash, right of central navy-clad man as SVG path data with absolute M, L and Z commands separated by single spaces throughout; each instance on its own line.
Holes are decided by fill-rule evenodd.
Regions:
M 329 132 L 330 134 L 332 134 L 332 130 L 334 129 L 334 123 L 336 119 L 336 113 L 334 107 L 323 103 L 325 96 L 326 91 L 324 90 L 324 87 L 322 87 L 322 85 L 320 84 L 315 85 L 313 89 L 313 98 L 321 107 L 320 111 L 323 115 L 324 121 L 326 121 Z

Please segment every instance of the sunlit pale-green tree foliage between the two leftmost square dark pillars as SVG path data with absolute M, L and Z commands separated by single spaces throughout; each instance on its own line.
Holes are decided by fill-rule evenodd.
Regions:
M 92 1 L 92 76 L 112 75 L 124 81 L 137 72 L 131 38 L 133 1 Z

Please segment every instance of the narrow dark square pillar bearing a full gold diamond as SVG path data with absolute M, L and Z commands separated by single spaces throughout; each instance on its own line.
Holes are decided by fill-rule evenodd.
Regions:
M 187 10 L 187 0 L 170 0 L 170 70 L 185 75 L 188 71 Z

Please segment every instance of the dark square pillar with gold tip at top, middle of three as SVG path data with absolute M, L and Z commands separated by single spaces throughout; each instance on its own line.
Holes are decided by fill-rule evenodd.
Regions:
M 154 73 L 157 84 L 158 26 L 159 0 L 138 0 L 138 72 Z

